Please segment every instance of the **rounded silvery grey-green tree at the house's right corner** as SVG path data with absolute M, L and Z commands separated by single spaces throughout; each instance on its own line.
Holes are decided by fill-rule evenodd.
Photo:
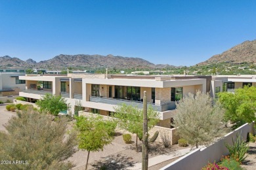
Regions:
M 222 132 L 224 110 L 219 105 L 212 106 L 209 94 L 189 93 L 177 103 L 175 126 L 177 133 L 188 143 L 196 145 L 213 141 Z

